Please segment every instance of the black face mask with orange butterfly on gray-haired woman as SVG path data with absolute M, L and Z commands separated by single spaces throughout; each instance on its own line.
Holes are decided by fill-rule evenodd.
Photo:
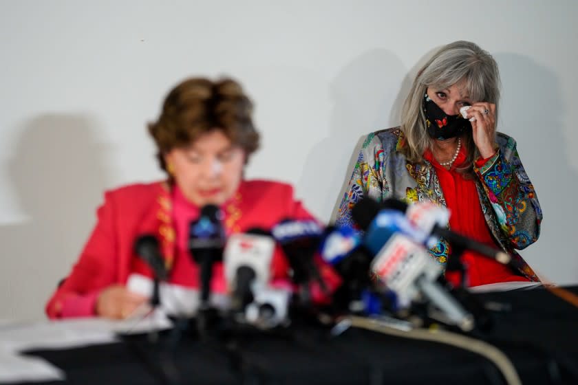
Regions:
M 466 129 L 471 129 L 469 120 L 464 119 L 460 114 L 446 115 L 444 110 L 440 109 L 427 94 L 423 99 L 423 112 L 427 133 L 434 139 L 449 139 L 460 135 Z

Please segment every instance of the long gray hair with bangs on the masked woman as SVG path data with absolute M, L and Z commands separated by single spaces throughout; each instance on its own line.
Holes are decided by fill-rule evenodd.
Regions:
M 500 73 L 497 63 L 486 51 L 469 41 L 455 41 L 442 47 L 419 70 L 409 95 L 405 99 L 401 112 L 401 130 L 407 147 L 409 162 L 422 162 L 426 148 L 431 149 L 431 138 L 425 126 L 425 114 L 422 111 L 423 97 L 427 87 L 446 89 L 461 83 L 473 102 L 490 102 L 497 106 L 500 100 Z M 471 169 L 473 159 L 480 154 L 473 143 L 471 133 L 466 140 L 468 148 L 467 168 Z

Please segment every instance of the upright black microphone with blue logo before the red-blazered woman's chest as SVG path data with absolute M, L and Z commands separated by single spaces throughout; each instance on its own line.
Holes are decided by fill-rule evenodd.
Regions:
M 208 307 L 211 293 L 213 264 L 222 260 L 225 243 L 224 230 L 221 225 L 223 214 L 220 208 L 206 205 L 201 208 L 197 221 L 189 225 L 189 252 L 195 263 L 200 265 L 200 307 Z

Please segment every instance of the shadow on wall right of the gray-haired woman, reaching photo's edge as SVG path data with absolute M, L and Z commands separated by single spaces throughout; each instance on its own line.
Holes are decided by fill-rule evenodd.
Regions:
M 502 77 L 498 131 L 515 138 L 544 212 L 539 240 L 522 254 L 545 278 L 578 283 L 578 206 L 572 199 L 578 191 L 578 175 L 569 166 L 573 154 L 564 151 L 566 109 L 560 80 L 526 56 L 499 53 L 494 57 Z

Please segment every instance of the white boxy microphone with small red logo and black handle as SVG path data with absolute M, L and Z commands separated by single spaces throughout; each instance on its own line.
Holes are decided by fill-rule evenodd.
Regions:
M 233 288 L 231 306 L 243 312 L 255 295 L 253 287 L 267 285 L 275 240 L 263 229 L 232 234 L 224 251 L 224 272 Z

